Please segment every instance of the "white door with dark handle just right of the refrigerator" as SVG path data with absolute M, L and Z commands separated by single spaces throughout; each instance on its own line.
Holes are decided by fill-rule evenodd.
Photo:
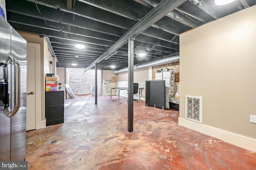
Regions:
M 39 47 L 40 48 L 40 47 Z M 26 131 L 36 129 L 36 70 L 38 44 L 27 43 L 27 115 Z

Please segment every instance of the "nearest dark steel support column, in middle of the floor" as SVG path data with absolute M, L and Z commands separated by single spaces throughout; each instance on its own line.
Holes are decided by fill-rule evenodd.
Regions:
M 128 39 L 128 131 L 133 131 L 134 37 Z

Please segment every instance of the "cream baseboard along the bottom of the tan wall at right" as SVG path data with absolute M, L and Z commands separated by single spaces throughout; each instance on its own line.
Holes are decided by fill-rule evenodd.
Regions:
M 206 135 L 215 137 L 217 139 L 220 139 L 222 141 L 231 143 L 233 145 L 236 145 L 238 147 L 251 150 L 253 152 L 256 152 L 256 139 L 251 139 L 248 137 L 244 137 L 242 135 L 238 135 L 235 133 L 231 133 L 228 131 L 224 131 L 221 129 L 217 129 L 215 127 L 211 127 L 208 125 L 203 125 L 200 123 L 196 123 L 193 121 L 189 121 L 183 118 L 178 119 L 178 124 L 187 127 L 189 129 L 192 129 L 194 131 L 198 131 L 200 133 L 204 133 Z

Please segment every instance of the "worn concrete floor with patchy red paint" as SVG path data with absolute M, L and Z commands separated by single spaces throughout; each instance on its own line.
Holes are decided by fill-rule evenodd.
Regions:
M 63 124 L 26 133 L 29 170 L 252 170 L 256 152 L 178 125 L 179 112 L 134 102 L 127 131 L 127 98 L 65 100 Z

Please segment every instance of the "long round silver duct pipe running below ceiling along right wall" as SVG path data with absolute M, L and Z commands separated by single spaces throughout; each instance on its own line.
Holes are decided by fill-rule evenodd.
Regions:
M 156 61 L 151 61 L 148 63 L 144 63 L 144 64 L 139 64 L 136 67 L 137 69 L 139 68 L 145 68 L 145 67 L 150 67 L 150 66 L 157 66 L 157 65 L 161 65 L 161 64 L 168 64 L 168 63 L 174 63 L 180 61 L 180 55 L 174 55 L 172 57 L 167 57 L 164 59 L 160 59 L 160 60 L 156 60 Z M 126 72 L 128 71 L 128 67 L 122 68 L 120 70 L 116 70 L 115 73 L 120 73 L 120 72 Z

